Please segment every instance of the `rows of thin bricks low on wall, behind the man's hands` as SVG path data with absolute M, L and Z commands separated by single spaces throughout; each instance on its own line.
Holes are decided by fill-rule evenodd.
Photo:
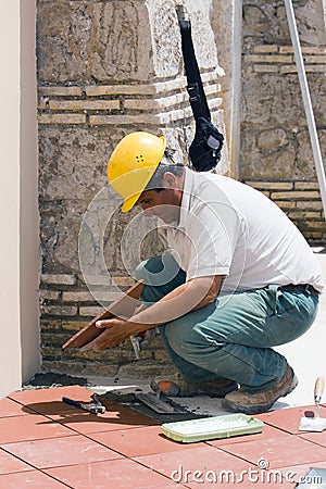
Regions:
M 117 286 L 124 290 L 133 280 L 128 277 L 113 277 Z M 82 329 L 102 309 L 85 285 L 75 275 L 42 275 L 40 289 L 41 309 L 41 351 L 43 369 L 59 371 L 66 374 L 118 377 L 138 375 L 150 379 L 161 368 L 172 372 L 172 364 L 166 356 L 163 342 L 156 336 L 150 346 L 141 351 L 136 361 L 130 341 L 103 352 L 88 351 L 82 353 L 77 349 L 62 350 L 75 333 Z M 116 299 L 116 293 L 105 293 L 108 304 Z M 135 362 L 136 365 L 135 366 Z

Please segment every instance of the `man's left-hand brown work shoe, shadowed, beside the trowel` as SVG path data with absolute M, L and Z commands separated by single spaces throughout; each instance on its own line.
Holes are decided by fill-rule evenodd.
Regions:
M 166 396 L 180 398 L 191 398 L 193 396 L 224 398 L 226 393 L 237 388 L 237 383 L 228 378 L 206 383 L 187 383 L 180 374 L 175 374 L 171 377 L 158 377 L 151 381 L 151 389 L 154 392 L 161 391 Z

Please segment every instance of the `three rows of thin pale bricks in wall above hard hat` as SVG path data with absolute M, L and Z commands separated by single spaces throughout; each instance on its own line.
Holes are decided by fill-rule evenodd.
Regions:
M 203 73 L 210 109 L 222 99 L 214 72 Z M 85 87 L 39 86 L 39 124 L 123 125 L 139 127 L 184 123 L 191 117 L 185 76 L 137 85 L 89 85 Z

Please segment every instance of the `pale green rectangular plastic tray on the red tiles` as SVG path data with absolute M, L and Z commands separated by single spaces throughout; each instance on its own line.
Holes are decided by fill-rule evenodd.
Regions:
M 216 438 L 252 435 L 261 432 L 264 423 L 262 421 L 247 414 L 227 414 L 185 422 L 164 423 L 162 430 L 167 438 L 184 443 L 192 443 Z

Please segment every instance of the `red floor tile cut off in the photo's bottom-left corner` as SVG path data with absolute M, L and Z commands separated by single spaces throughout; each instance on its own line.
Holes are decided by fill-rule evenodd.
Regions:
M 25 486 L 33 489 L 66 489 L 65 485 L 38 471 L 0 475 L 1 489 L 21 489 Z

